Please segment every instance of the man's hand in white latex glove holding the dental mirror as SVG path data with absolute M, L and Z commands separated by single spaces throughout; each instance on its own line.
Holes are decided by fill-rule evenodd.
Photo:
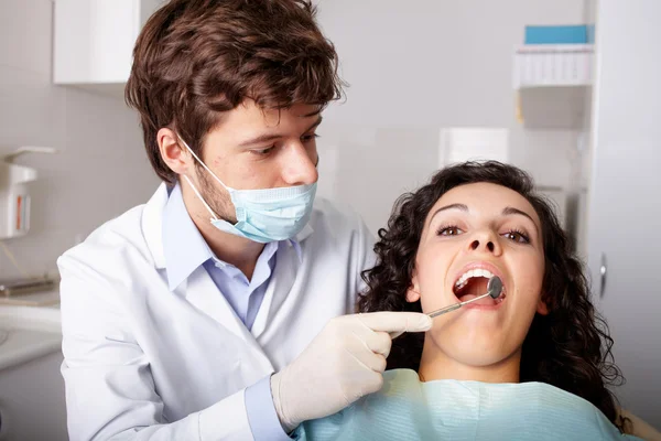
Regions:
M 273 404 L 289 433 L 301 422 L 333 415 L 383 385 L 392 338 L 422 332 L 432 319 L 415 312 L 335 318 L 291 365 L 271 377 Z

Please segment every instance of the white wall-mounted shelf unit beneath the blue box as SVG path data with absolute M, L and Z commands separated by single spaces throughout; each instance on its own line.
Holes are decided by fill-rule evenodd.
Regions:
M 593 84 L 592 44 L 521 45 L 513 54 L 517 116 L 527 128 L 584 125 Z

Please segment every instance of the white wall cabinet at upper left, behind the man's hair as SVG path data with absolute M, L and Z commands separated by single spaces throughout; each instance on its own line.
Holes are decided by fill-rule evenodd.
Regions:
M 53 82 L 121 95 L 140 30 L 161 0 L 55 0 Z

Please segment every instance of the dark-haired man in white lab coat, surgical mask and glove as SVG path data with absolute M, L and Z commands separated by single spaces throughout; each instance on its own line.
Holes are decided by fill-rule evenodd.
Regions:
M 390 335 L 431 327 L 346 315 L 372 239 L 315 202 L 336 72 L 308 0 L 148 21 L 127 101 L 163 184 L 58 260 L 72 440 L 286 440 L 381 387 Z

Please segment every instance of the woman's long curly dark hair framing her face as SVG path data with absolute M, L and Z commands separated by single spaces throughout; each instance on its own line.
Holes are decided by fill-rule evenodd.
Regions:
M 624 383 L 614 364 L 613 338 L 589 300 L 588 283 L 567 236 L 546 200 L 537 194 L 522 170 L 500 162 L 466 162 L 436 173 L 431 183 L 402 195 L 388 228 L 379 230 L 377 265 L 362 273 L 367 290 L 359 295 L 360 312 L 422 312 L 420 301 L 407 302 L 418 245 L 427 214 L 447 191 L 470 183 L 494 183 L 525 197 L 541 219 L 545 273 L 542 299 L 548 315 L 535 314 L 523 342 L 521 381 L 542 381 L 583 397 L 622 430 L 615 397 L 606 388 Z M 388 368 L 418 370 L 424 334 L 395 338 Z

